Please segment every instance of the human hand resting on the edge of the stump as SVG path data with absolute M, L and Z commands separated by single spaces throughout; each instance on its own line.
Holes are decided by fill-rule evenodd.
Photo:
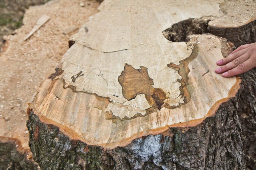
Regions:
M 256 42 L 239 46 L 228 57 L 218 60 L 221 67 L 215 73 L 222 73 L 223 77 L 236 76 L 256 67 Z

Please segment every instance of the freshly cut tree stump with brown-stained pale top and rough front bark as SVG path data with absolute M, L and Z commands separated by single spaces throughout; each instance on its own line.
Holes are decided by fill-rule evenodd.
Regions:
M 234 48 L 209 34 L 208 23 L 224 16 L 218 2 L 105 0 L 99 10 L 28 108 L 40 167 L 245 168 L 241 80 L 214 72 Z M 185 39 L 172 40 L 184 20 Z M 251 33 L 248 20 L 234 29 Z

